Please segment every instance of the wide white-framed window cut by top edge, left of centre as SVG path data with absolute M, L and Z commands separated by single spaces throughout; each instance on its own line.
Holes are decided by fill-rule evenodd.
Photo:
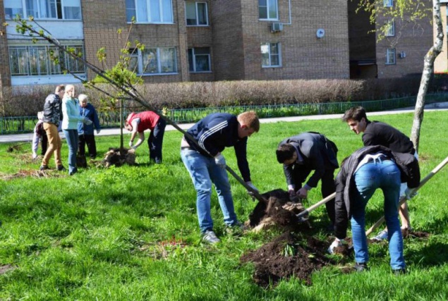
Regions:
M 145 9 L 147 11 L 146 16 L 144 14 L 143 8 L 140 8 L 139 1 L 145 1 Z M 151 4 L 154 0 L 126 0 L 125 1 L 125 8 L 126 8 L 126 23 L 132 23 L 132 17 L 135 17 L 135 23 L 138 24 L 174 24 L 174 12 L 173 12 L 173 0 L 155 0 L 158 1 L 159 5 L 159 18 L 160 21 L 153 21 L 152 20 L 152 10 L 151 10 Z M 165 21 L 164 20 L 164 1 L 169 1 L 169 8 L 170 8 L 170 18 L 171 20 Z M 128 4 L 133 2 L 133 8 L 128 8 Z M 134 11 L 133 16 L 131 14 L 128 16 L 128 11 Z M 146 20 L 139 20 L 139 16 L 145 16 Z M 130 20 L 129 20 L 130 19 Z

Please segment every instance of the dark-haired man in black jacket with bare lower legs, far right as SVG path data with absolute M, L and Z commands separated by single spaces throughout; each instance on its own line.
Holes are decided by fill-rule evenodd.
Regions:
M 409 137 L 387 123 L 369 121 L 366 116 L 365 109 L 362 106 L 353 107 L 347 110 L 344 113 L 344 116 L 342 116 L 342 121 L 346 122 L 350 129 L 356 133 L 356 135 L 363 133 L 362 139 L 365 147 L 370 145 L 382 145 L 391 149 L 392 152 L 413 154 L 418 159 L 416 149 L 414 149 L 413 143 Z M 401 196 L 405 195 L 406 188 L 406 183 L 401 185 Z M 401 218 L 401 228 L 411 229 L 407 202 L 401 204 L 399 212 Z M 373 239 L 384 240 L 386 238 L 387 229 L 378 233 Z

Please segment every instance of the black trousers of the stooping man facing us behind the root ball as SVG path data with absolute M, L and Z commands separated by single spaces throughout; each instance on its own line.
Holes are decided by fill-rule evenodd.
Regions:
M 295 165 L 293 168 L 293 180 L 296 186 L 296 192 L 302 188 L 302 184 L 310 175 L 313 169 L 305 166 Z M 325 173 L 320 179 L 320 191 L 322 192 L 322 198 L 328 197 L 333 192 L 336 192 L 336 184 L 334 184 L 334 168 L 325 169 Z M 332 225 L 334 225 L 334 219 L 336 216 L 336 209 L 334 208 L 334 199 L 325 204 L 327 209 L 327 215 Z

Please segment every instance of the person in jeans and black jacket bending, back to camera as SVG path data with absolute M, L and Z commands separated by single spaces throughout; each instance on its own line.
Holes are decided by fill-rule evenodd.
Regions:
M 368 245 L 365 236 L 365 207 L 377 188 L 385 197 L 385 221 L 389 230 L 390 265 L 395 274 L 404 274 L 403 237 L 398 218 L 401 173 L 396 159 L 387 147 L 363 147 L 351 154 L 341 164 L 336 177 L 336 239 L 330 245 L 333 253 L 346 237 L 348 220 L 351 219 L 356 271 L 368 269 Z

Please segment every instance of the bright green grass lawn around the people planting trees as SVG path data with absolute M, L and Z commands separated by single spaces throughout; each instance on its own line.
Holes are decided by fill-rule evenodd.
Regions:
M 375 116 L 410 133 L 413 115 Z M 425 113 L 420 136 L 420 168 L 426 176 L 448 154 L 448 112 Z M 306 130 L 324 133 L 339 147 L 339 161 L 362 146 L 361 137 L 339 120 L 262 124 L 250 137 L 248 161 L 253 183 L 261 192 L 286 188 L 274 158 L 278 143 Z M 147 147 L 137 150 L 139 166 L 81 169 L 69 177 L 32 176 L 0 181 L 0 300 L 447 300 L 448 299 L 448 168 L 428 182 L 410 202 L 413 228 L 428 239 L 408 239 L 404 254 L 409 273 L 394 276 L 387 244 L 370 246 L 370 271 L 342 274 L 347 261 L 313 274 L 313 285 L 296 278 L 275 288 L 252 281 L 252 264 L 241 254 L 263 245 L 279 231 L 226 235 L 217 197 L 212 196 L 217 246 L 200 242 L 195 190 L 179 156 L 181 134 L 167 132 L 164 164 L 148 164 Z M 118 137 L 97 137 L 99 154 L 119 145 Z M 30 145 L 8 153 L 0 145 L 0 176 L 30 173 Z M 68 149 L 63 142 L 62 158 Z M 226 161 L 236 168 L 232 149 Z M 54 161 L 50 166 L 54 168 Z M 255 207 L 244 188 L 231 180 L 236 213 L 241 220 Z M 310 191 L 308 207 L 321 199 Z M 327 239 L 325 207 L 313 211 L 315 235 Z M 382 199 L 368 204 L 371 226 L 382 216 Z

